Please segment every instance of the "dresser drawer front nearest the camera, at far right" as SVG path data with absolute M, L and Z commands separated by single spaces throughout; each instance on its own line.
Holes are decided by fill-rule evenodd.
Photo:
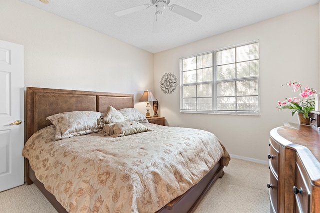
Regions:
M 295 181 L 293 186 L 294 194 L 294 212 L 295 213 L 309 213 L 310 212 L 310 191 L 307 186 L 309 179 L 305 177 L 305 171 L 297 156 L 295 163 Z

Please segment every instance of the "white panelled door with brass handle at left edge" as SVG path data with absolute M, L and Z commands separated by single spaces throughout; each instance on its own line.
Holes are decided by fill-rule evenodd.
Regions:
M 23 46 L 0 40 L 0 192 L 24 182 Z

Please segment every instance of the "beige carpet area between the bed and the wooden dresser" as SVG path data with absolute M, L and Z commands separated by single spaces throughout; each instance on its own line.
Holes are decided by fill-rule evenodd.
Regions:
M 194 213 L 269 213 L 268 165 L 232 158 Z

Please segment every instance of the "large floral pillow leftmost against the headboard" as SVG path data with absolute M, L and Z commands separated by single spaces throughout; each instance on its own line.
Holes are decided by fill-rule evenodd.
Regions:
M 103 124 L 98 119 L 103 115 L 93 111 L 73 111 L 46 117 L 56 128 L 55 140 L 98 132 Z

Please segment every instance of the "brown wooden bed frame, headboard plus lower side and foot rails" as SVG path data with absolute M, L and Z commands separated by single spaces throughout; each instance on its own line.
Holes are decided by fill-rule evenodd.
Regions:
M 104 113 L 109 105 L 115 109 L 133 107 L 133 95 L 27 87 L 26 139 L 36 131 L 51 125 L 51 122 L 45 119 L 47 116 L 80 110 Z M 66 213 L 66 210 L 56 201 L 54 196 L 46 191 L 43 184 L 36 179 L 28 161 L 26 175 L 28 185 L 34 183 L 58 213 Z M 211 185 L 218 178 L 222 178 L 223 175 L 223 165 L 220 159 L 198 184 L 190 188 L 185 194 L 168 203 L 157 213 L 194 212 Z

